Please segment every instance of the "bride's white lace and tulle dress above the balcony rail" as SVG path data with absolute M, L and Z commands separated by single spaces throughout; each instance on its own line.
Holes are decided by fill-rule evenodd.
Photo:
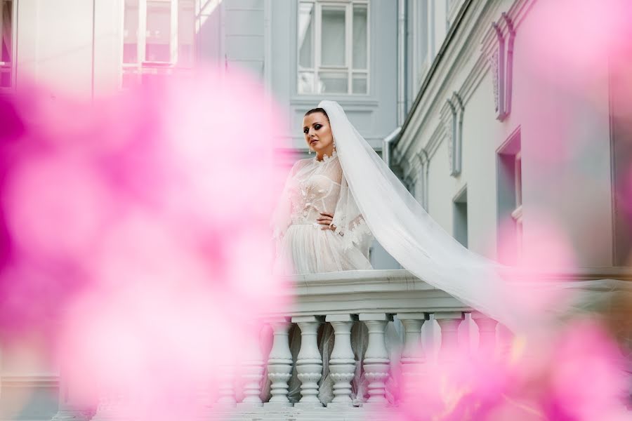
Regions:
M 288 176 L 279 203 L 289 213 L 289 225 L 277 229 L 278 274 L 314 274 L 353 269 L 372 269 L 372 240 L 364 218 L 348 192 L 338 156 L 301 159 Z M 352 210 L 353 215 L 346 215 Z M 355 211 L 354 211 L 355 210 Z M 278 211 L 278 210 L 277 210 Z M 336 231 L 317 223 L 321 212 L 334 214 Z M 343 215 L 344 214 L 344 215 Z

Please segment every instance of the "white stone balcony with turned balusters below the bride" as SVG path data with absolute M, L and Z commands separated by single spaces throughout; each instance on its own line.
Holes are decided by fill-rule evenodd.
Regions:
M 583 291 L 620 295 L 622 287 L 629 293 L 632 275 L 607 268 L 548 278 L 584 281 L 579 287 Z M 218 370 L 213 380 L 218 395 L 201 393 L 196 398 L 204 402 L 204 420 L 390 420 L 389 408 L 414 393 L 407 388 L 409 380 L 423 379 L 419 376 L 430 361 L 450 361 L 449 349 L 466 354 L 482 348 L 503 354 L 509 349 L 508 329 L 406 270 L 310 274 L 291 281 L 296 288 L 287 297 L 293 299 L 289 311 L 264 316 L 263 327 L 256 325 L 260 334 L 253 338 L 248 356 L 238 366 L 226 364 Z M 615 307 L 610 309 L 616 311 Z M 358 359 L 351 332 L 362 325 L 367 347 Z M 319 349 L 325 327 L 333 331 L 331 354 Z M 300 344 L 291 347 L 298 343 L 297 336 Z M 323 361 L 333 382 L 333 396 L 326 401 L 319 394 Z M 360 377 L 363 398 L 353 399 L 352 383 Z M 389 390 L 393 382 L 402 392 L 395 397 Z M 110 419 L 108 413 L 122 403 L 120 396 L 104 396 L 92 420 Z

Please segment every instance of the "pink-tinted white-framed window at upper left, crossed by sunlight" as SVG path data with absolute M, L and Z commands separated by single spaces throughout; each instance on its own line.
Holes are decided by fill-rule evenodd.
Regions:
M 125 0 L 123 87 L 193 65 L 195 0 Z

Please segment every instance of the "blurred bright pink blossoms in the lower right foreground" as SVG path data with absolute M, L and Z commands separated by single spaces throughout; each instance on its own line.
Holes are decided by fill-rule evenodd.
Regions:
M 507 353 L 428 362 L 407 387 L 398 420 L 623 421 L 626 378 L 617 345 L 595 320 L 516 338 Z

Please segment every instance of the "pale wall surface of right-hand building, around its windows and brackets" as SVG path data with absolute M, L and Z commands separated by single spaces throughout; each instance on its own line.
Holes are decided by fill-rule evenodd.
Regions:
M 461 1 L 461 6 L 466 4 Z M 443 41 L 445 8 L 433 2 L 435 48 Z M 527 7 L 525 4 L 530 6 Z M 580 267 L 610 266 L 612 250 L 612 182 L 607 62 L 596 69 L 590 97 L 577 95 L 565 83 L 567 69 L 544 67 L 528 41 L 539 36 L 541 0 L 473 1 L 453 34 L 426 91 L 411 111 L 409 124 L 393 155 L 404 178 L 421 180 L 414 162 L 422 149 L 428 163 L 428 212 L 453 232 L 454 196 L 468 192 L 468 246 L 496 258 L 499 235 L 499 147 L 520 130 L 522 140 L 522 202 L 525 243 L 532 243 L 542 222 L 555 225 L 573 250 Z M 520 7 L 518 7 L 520 6 Z M 513 58 L 511 113 L 496 119 L 492 72 L 482 44 L 492 20 L 502 12 L 518 13 Z M 442 15 L 444 13 L 444 15 Z M 458 11 L 452 10 L 454 20 Z M 423 29 L 423 28 L 422 28 Z M 430 28 L 432 29 L 432 28 Z M 542 78 L 536 69 L 547 69 Z M 450 175 L 447 132 L 441 110 L 453 93 L 464 105 L 461 174 Z M 567 128 L 571 133 L 563 132 Z M 566 138 L 567 143 L 560 142 Z M 437 146 L 438 144 L 438 146 Z M 552 145 L 557 145 L 551 149 Z M 435 150 L 436 149 L 436 150 Z M 416 190 L 418 191 L 418 190 Z M 539 250 L 524 250 L 525 255 Z

